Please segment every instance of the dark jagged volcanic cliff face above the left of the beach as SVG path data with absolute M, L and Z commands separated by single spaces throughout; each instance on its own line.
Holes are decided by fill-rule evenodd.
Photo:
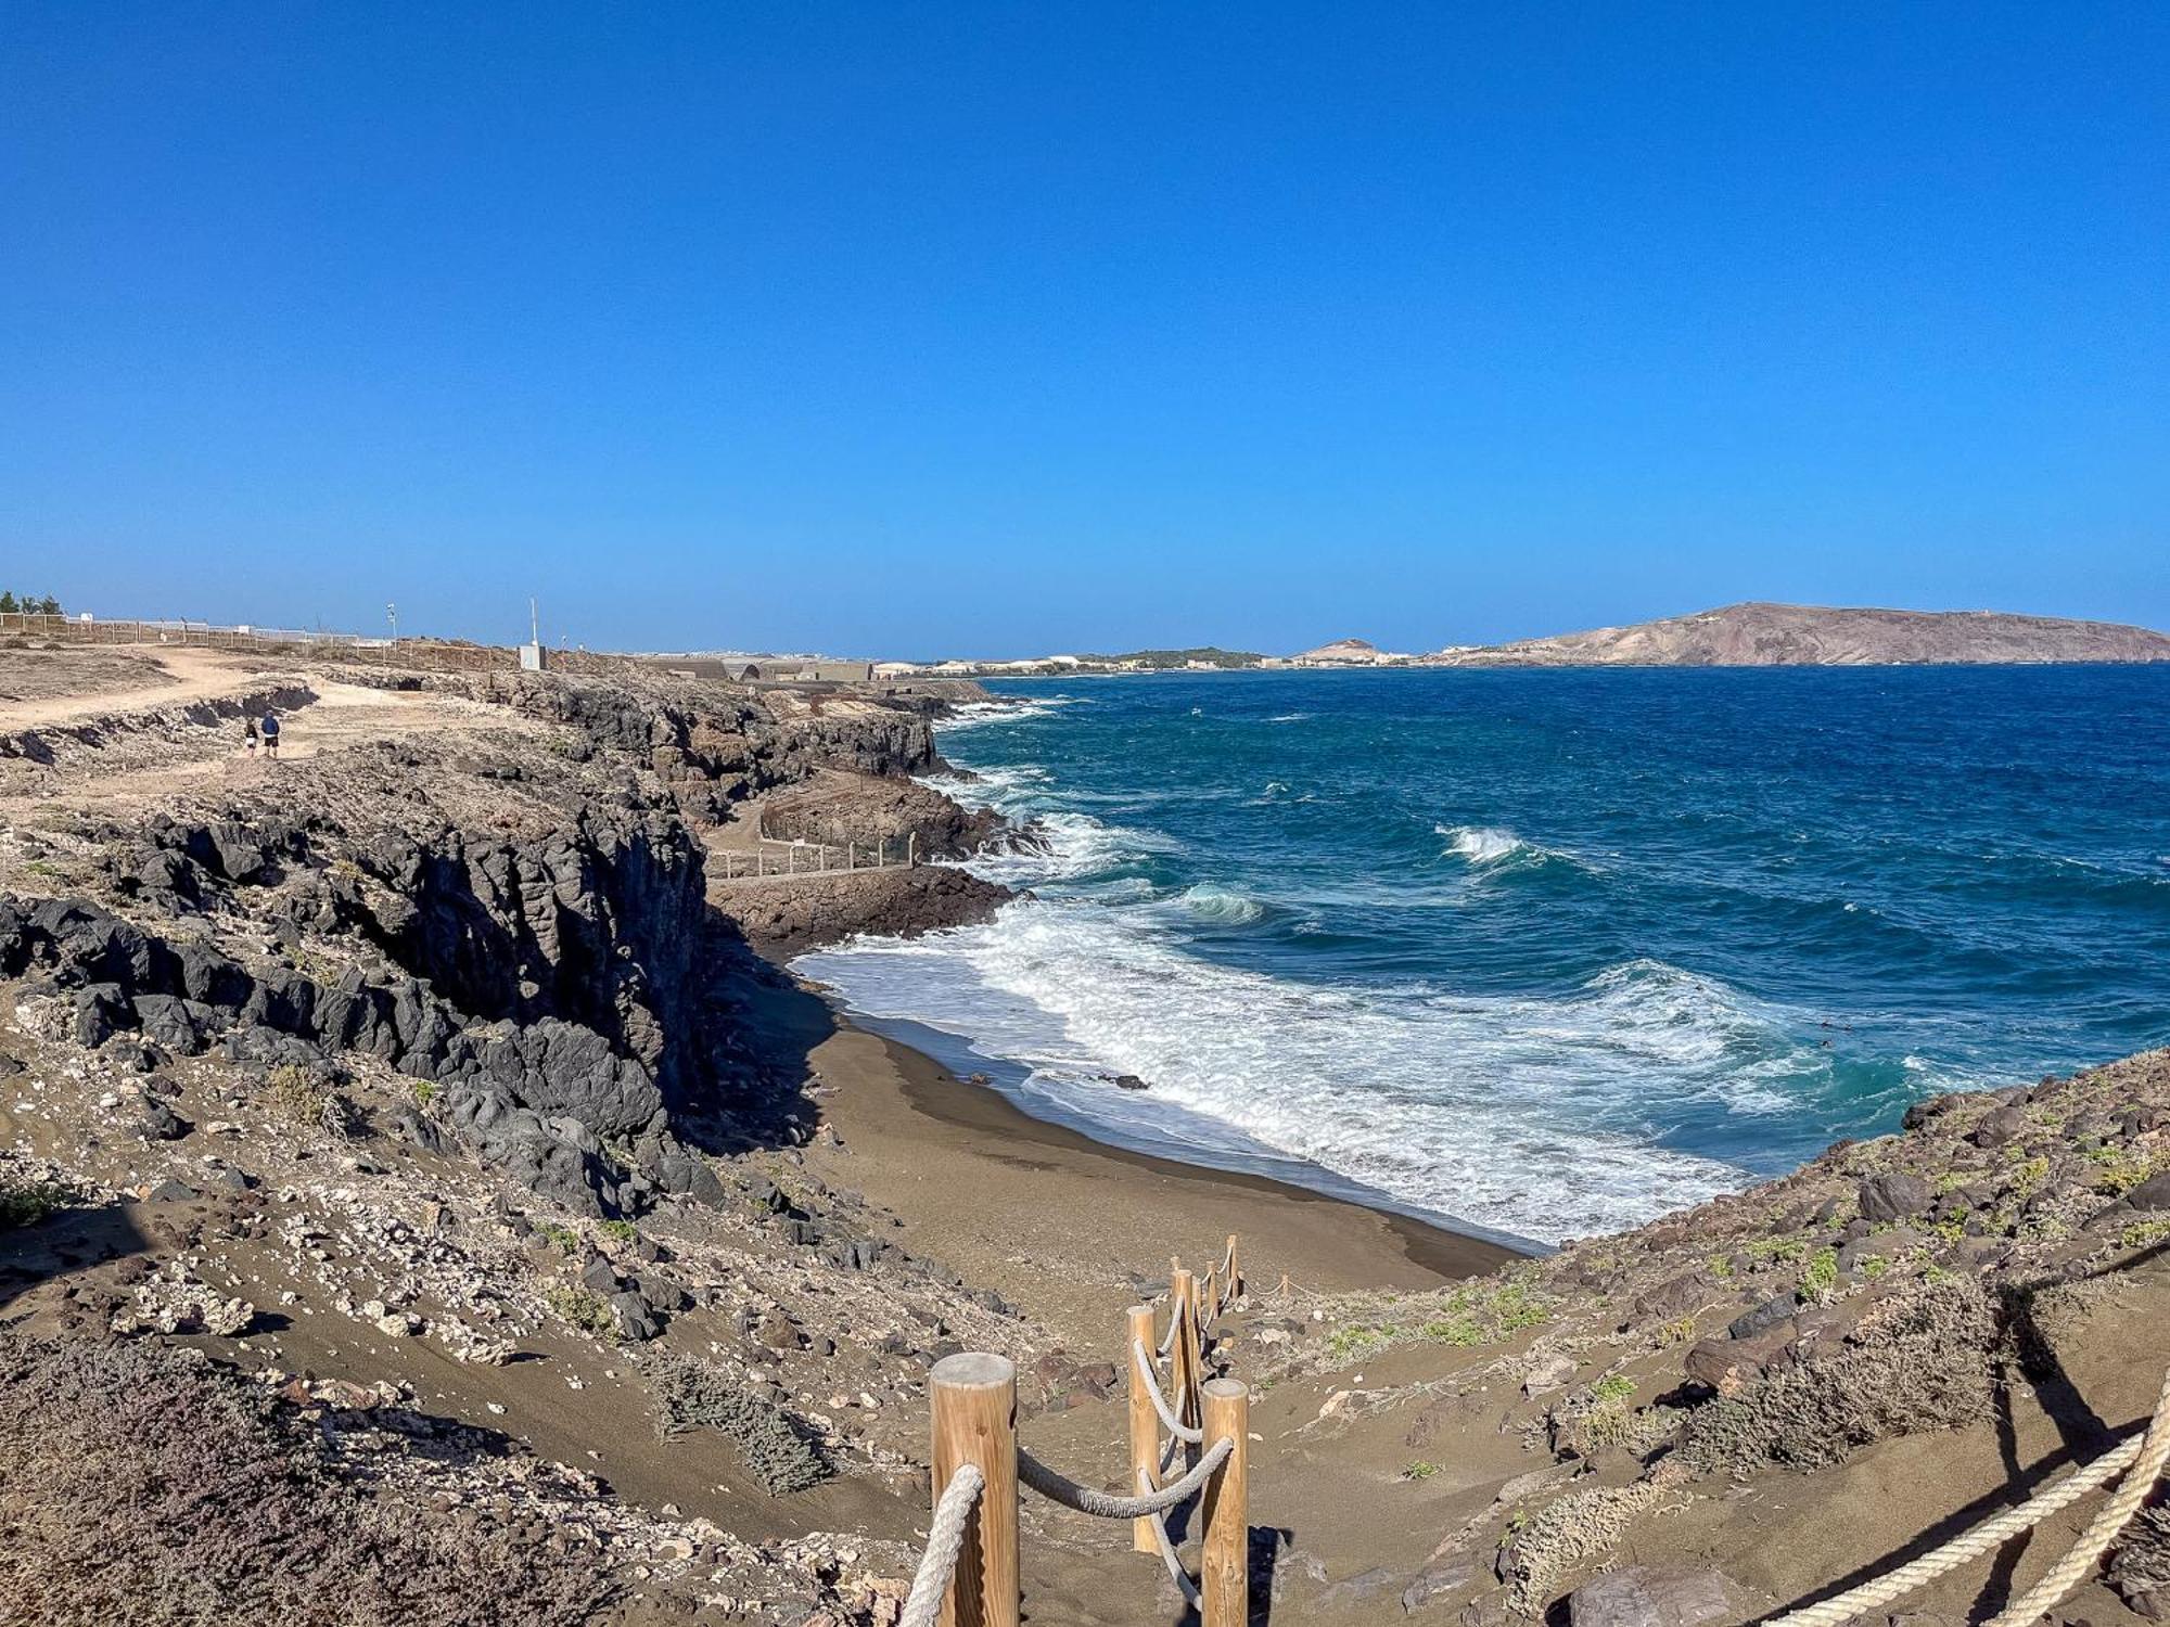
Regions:
M 688 820 L 822 781 L 888 809 L 922 853 L 990 822 L 901 779 L 937 761 L 927 707 L 644 677 L 397 681 L 519 718 L 471 753 L 373 742 L 297 764 L 276 803 L 108 824 L 93 896 L 0 898 L 0 976 L 56 996 L 85 1046 L 217 1046 L 258 1078 L 380 1059 L 434 1087 L 386 1128 L 616 1215 L 655 1193 L 714 1197 L 686 1126 L 738 1145 L 794 1082 L 738 1030 L 731 989 L 764 974 L 707 898 Z M 796 948 L 979 920 L 1005 896 L 922 868 L 742 902 L 766 944 Z

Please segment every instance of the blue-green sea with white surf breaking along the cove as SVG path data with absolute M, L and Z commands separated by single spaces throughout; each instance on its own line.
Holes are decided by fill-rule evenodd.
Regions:
M 2170 1043 L 2170 666 L 994 688 L 1033 898 L 799 970 L 1107 1141 L 1556 1243 Z

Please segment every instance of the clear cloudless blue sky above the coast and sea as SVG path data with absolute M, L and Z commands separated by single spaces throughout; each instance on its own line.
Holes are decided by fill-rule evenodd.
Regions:
M 0 581 L 864 655 L 2170 627 L 2170 7 L 7 0 Z

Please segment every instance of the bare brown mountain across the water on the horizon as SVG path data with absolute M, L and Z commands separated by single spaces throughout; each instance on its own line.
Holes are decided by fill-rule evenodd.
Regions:
M 1465 644 L 1426 666 L 1907 666 L 2170 662 L 2170 633 L 1996 610 L 1831 610 L 1743 603 L 1634 627 Z

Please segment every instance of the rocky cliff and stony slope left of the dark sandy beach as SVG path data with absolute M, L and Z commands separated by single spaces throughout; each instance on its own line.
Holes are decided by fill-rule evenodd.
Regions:
M 896 779 L 940 701 L 321 666 L 106 705 L 143 672 L 37 659 L 0 731 L 0 1616 L 892 1623 L 909 1553 L 762 1510 L 909 1534 L 924 1369 L 1037 1334 L 803 1167 L 818 1004 L 749 926 L 1005 894 L 733 915 L 707 844 L 831 777 L 966 850 Z

